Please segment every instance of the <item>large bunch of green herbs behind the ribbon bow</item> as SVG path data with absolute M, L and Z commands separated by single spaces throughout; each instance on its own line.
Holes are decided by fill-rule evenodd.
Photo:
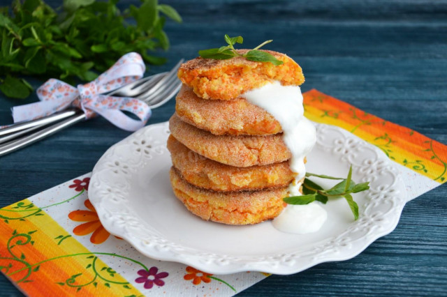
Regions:
M 27 97 L 29 84 L 17 75 L 89 81 L 97 77 L 92 70 L 103 72 L 128 52 L 138 52 L 147 63 L 163 63 L 149 51 L 168 49 L 166 17 L 175 22 L 182 17 L 156 0 L 143 0 L 140 7 L 124 11 L 116 3 L 64 0 L 53 10 L 43 0 L 25 0 L 0 8 L 0 91 L 12 98 Z M 128 23 L 133 20 L 136 25 Z

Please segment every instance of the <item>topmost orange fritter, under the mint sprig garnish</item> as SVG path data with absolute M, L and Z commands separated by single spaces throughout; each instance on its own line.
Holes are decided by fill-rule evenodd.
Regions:
M 237 50 L 244 54 L 248 50 Z M 230 100 L 244 92 L 259 88 L 268 82 L 279 81 L 282 85 L 299 86 L 305 82 L 301 67 L 293 59 L 270 50 L 284 63 L 274 66 L 269 62 L 254 62 L 241 56 L 228 60 L 196 59 L 187 61 L 179 68 L 178 77 L 204 99 Z

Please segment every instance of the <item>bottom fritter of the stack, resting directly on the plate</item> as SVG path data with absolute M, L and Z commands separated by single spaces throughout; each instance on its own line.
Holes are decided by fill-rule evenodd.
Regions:
M 275 190 L 214 192 L 184 181 L 176 169 L 170 169 L 175 196 L 191 213 L 203 220 L 223 224 L 257 224 L 277 217 L 286 203 L 287 187 Z

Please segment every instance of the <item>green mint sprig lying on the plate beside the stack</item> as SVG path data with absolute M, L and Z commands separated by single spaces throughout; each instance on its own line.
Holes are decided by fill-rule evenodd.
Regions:
M 301 196 L 292 196 L 284 198 L 284 202 L 287 204 L 293 205 L 305 205 L 309 204 L 313 201 L 320 201 L 323 204 L 328 202 L 328 198 L 333 197 L 344 197 L 349 204 L 349 208 L 354 215 L 354 220 L 358 219 L 358 205 L 356 201 L 354 201 L 351 194 L 362 192 L 369 189 L 369 182 L 366 183 L 354 183 L 351 179 L 352 176 L 352 165 L 349 168 L 349 173 L 347 178 L 337 178 L 327 175 L 319 175 L 307 173 L 306 177 L 315 176 L 319 178 L 328 178 L 328 179 L 342 179 L 343 181 L 337 183 L 332 188 L 328 190 L 324 190 L 320 185 L 314 183 L 309 178 L 305 178 L 305 181 L 302 183 L 302 194 Z

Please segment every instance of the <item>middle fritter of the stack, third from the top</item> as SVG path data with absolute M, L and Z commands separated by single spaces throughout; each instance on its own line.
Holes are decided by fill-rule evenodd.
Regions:
M 282 134 L 212 135 L 185 123 L 177 114 L 169 120 L 171 134 L 179 142 L 211 160 L 235 167 L 268 165 L 284 162 L 292 157 L 282 139 Z

